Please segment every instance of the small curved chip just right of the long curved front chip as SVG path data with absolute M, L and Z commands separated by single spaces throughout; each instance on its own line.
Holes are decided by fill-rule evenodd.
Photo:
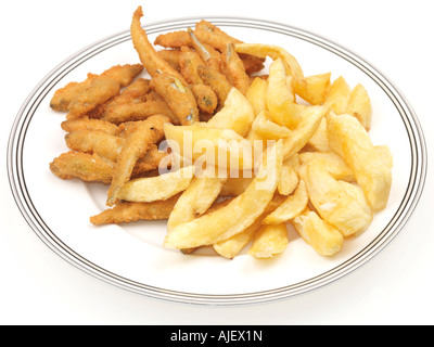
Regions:
M 298 216 L 307 206 L 309 196 L 307 194 L 306 183 L 299 180 L 295 192 L 275 211 L 269 214 L 263 221 L 264 224 L 280 224 Z

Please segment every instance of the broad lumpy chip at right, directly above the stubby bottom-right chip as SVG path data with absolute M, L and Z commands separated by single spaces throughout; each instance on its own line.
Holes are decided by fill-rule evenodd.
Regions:
M 362 191 L 352 183 L 334 179 L 320 158 L 305 165 L 304 179 L 309 200 L 318 214 L 344 236 L 363 231 L 372 220 L 372 211 Z

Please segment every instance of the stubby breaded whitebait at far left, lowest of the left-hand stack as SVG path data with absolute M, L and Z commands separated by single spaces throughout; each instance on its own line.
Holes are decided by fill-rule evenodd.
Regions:
M 50 170 L 64 180 L 77 178 L 87 182 L 108 184 L 112 181 L 112 165 L 95 153 L 69 151 L 54 158 L 50 163 Z

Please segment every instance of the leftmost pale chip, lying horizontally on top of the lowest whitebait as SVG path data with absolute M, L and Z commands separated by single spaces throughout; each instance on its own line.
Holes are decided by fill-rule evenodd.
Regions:
M 137 178 L 126 182 L 116 193 L 116 197 L 136 203 L 167 200 L 184 191 L 193 179 L 193 174 L 194 167 L 188 166 L 155 177 Z

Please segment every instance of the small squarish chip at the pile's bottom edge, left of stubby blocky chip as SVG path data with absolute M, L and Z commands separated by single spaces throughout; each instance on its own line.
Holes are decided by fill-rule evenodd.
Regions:
M 285 223 L 261 226 L 253 237 L 248 254 L 255 258 L 271 258 L 285 250 L 289 243 Z

